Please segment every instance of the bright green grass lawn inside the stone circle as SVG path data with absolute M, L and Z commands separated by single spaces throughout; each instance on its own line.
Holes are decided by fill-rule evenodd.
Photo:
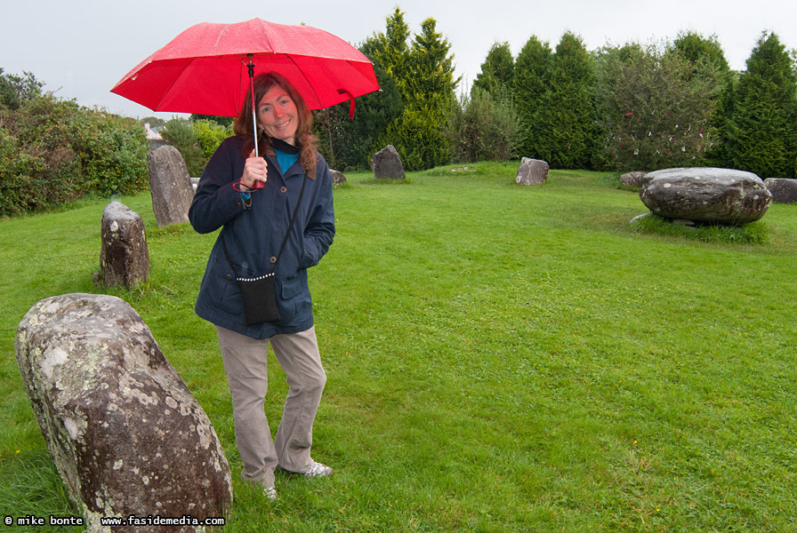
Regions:
M 705 242 L 629 224 L 648 210 L 608 174 L 522 187 L 516 163 L 453 168 L 335 190 L 310 270 L 328 378 L 313 455 L 335 473 L 279 474 L 276 503 L 238 476 L 215 332 L 193 313 L 215 235 L 122 199 L 152 274 L 109 292 L 213 421 L 236 491 L 224 530 L 797 531 L 797 205 L 770 207 L 765 243 Z M 106 291 L 104 204 L 0 222 L 3 516 L 75 513 L 13 338 L 39 299 Z M 276 429 L 273 356 L 270 376 Z

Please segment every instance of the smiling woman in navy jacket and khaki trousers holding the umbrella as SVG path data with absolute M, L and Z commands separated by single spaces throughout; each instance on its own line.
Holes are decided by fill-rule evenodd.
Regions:
M 302 96 L 284 77 L 269 73 L 254 79 L 254 101 L 258 131 L 250 94 L 233 127 L 237 135 L 222 141 L 205 166 L 189 219 L 201 234 L 221 227 L 196 312 L 213 322 L 218 333 L 243 476 L 274 499 L 277 466 L 311 477 L 332 473 L 310 457 L 326 374 L 313 327 L 307 269 L 332 244 L 334 210 L 332 177 L 315 149 L 312 115 Z M 264 157 L 254 156 L 255 135 Z M 287 233 L 294 210 L 294 225 Z M 246 325 L 237 278 L 270 272 L 275 272 L 279 320 Z M 263 411 L 269 345 L 289 385 L 273 441 Z

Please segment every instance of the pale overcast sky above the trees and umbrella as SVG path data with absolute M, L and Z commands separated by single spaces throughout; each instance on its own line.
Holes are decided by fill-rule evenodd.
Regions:
M 7 0 L 0 68 L 6 74 L 32 72 L 60 98 L 143 117 L 153 113 L 112 94 L 111 87 L 189 26 L 254 17 L 304 22 L 356 45 L 383 32 L 397 6 L 413 35 L 424 19 L 437 20 L 455 55 L 456 74 L 468 88 L 495 42 L 508 42 L 517 57 L 530 36 L 553 49 L 568 30 L 581 36 L 589 50 L 630 41 L 672 41 L 680 31 L 696 31 L 716 36 L 737 70 L 745 68 L 762 31 L 774 31 L 787 48 L 797 48 L 794 0 Z

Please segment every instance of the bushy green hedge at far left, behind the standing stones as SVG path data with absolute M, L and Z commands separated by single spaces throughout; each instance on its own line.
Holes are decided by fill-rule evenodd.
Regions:
M 70 203 L 86 194 L 149 186 L 147 149 L 133 119 L 52 94 L 7 111 L 0 124 L 0 216 Z

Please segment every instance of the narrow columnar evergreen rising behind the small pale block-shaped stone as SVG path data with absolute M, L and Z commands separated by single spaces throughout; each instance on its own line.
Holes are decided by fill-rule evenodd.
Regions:
M 525 157 L 542 158 L 539 146 L 543 127 L 537 113 L 543 104 L 548 87 L 552 53 L 547 43 L 531 36 L 515 60 L 513 101 L 520 122 L 519 153 Z

